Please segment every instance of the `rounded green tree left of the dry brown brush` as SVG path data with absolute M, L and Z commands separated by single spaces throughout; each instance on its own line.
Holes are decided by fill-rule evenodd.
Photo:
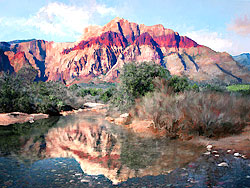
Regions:
M 152 62 L 127 63 L 120 74 L 120 84 L 112 102 L 120 111 L 126 111 L 134 105 L 135 99 L 154 90 L 156 77 L 168 79 L 169 71 Z

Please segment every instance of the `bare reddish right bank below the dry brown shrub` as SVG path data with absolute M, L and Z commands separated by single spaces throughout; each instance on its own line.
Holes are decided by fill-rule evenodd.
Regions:
M 159 138 L 166 136 L 166 130 L 155 128 L 153 121 L 133 120 L 128 113 L 121 114 L 117 118 L 106 117 L 106 120 L 118 126 L 124 126 L 141 137 Z M 204 147 L 211 145 L 213 150 L 224 150 L 231 154 L 239 153 L 245 158 L 250 158 L 250 124 L 241 133 L 223 138 L 213 139 L 204 136 L 186 136 L 185 140 Z

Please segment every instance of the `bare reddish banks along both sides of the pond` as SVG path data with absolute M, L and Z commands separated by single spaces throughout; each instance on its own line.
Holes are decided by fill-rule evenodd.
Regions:
M 67 116 L 74 113 L 90 111 L 96 114 L 107 115 L 107 107 L 107 105 L 100 103 L 85 103 L 84 109 L 63 111 L 60 114 L 62 116 Z M 48 117 L 48 114 L 26 114 L 21 112 L 4 113 L 0 114 L 0 125 L 8 126 L 15 123 L 33 123 L 36 120 L 45 119 Z M 136 120 L 133 119 L 128 113 L 121 114 L 117 118 L 106 116 L 105 120 L 116 124 L 117 126 L 123 126 L 141 137 L 159 138 L 166 136 L 166 130 L 155 128 L 152 121 Z M 189 140 L 189 142 L 193 144 L 202 145 L 204 147 L 207 145 L 212 145 L 215 150 L 222 149 L 229 151 L 230 153 L 240 153 L 245 157 L 250 158 L 250 124 L 245 127 L 240 134 L 230 135 L 216 140 L 202 136 L 190 136 L 186 138 L 186 140 Z

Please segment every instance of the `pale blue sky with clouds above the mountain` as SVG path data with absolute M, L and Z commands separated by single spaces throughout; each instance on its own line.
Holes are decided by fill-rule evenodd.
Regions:
M 162 24 L 215 51 L 250 52 L 250 0 L 0 0 L 0 41 L 75 42 L 115 17 Z

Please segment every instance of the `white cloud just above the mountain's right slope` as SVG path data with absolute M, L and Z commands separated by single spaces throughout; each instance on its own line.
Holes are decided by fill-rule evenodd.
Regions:
M 198 44 L 210 47 L 215 51 L 230 51 L 233 47 L 233 42 L 230 39 L 223 38 L 222 35 L 217 32 L 199 30 L 185 33 L 185 35 L 196 41 Z

